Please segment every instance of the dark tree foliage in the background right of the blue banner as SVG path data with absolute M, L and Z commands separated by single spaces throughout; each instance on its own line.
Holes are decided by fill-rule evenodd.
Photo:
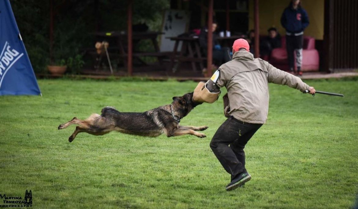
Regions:
M 94 46 L 91 32 L 127 29 L 125 0 L 53 0 L 53 58 L 78 58 L 84 48 Z M 97 2 L 97 4 L 96 4 Z M 10 1 L 26 50 L 36 73 L 50 63 L 49 0 Z M 149 30 L 160 30 L 169 0 L 134 0 L 133 24 L 146 23 Z M 145 43 L 145 42 L 144 42 Z

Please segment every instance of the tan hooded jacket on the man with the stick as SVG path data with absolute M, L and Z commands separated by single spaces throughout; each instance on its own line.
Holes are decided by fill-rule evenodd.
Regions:
M 279 70 L 253 55 L 240 50 L 233 59 L 219 67 L 220 78 L 217 85 L 226 87 L 229 97 L 229 114 L 247 122 L 263 124 L 269 112 L 268 83 L 282 84 L 300 91 L 308 90 L 309 85 L 300 78 Z

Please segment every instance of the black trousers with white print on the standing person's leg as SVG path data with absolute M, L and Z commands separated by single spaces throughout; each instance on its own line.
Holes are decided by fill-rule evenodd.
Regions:
M 297 70 L 301 69 L 302 65 L 302 48 L 303 48 L 303 34 L 302 35 L 286 35 L 286 50 L 287 59 L 289 61 L 289 69 L 294 69 L 294 51 L 296 51 L 296 66 Z

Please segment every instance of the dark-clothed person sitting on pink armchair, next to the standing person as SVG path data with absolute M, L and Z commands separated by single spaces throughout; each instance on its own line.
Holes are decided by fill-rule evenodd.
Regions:
M 272 27 L 269 28 L 267 32 L 269 33 L 268 36 L 266 36 L 261 40 L 261 44 L 260 44 L 261 56 L 265 56 L 265 55 L 270 56 L 272 49 L 281 47 L 281 36 L 277 32 L 277 29 Z

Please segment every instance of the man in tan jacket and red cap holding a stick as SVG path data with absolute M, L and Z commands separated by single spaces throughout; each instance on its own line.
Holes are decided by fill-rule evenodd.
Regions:
M 206 85 L 211 92 L 218 92 L 223 86 L 228 91 L 229 117 L 216 131 L 210 143 L 224 169 L 231 174 L 231 182 L 226 186 L 228 191 L 251 179 L 245 169 L 243 149 L 267 119 L 268 84 L 287 85 L 302 92 L 309 90 L 310 94 L 315 93 L 315 89 L 300 78 L 279 70 L 260 58 L 254 59 L 245 39 L 237 39 L 232 48 L 233 59 L 221 65 Z M 195 98 L 198 95 L 193 96 L 194 101 Z M 201 100 L 203 101 L 205 99 Z

